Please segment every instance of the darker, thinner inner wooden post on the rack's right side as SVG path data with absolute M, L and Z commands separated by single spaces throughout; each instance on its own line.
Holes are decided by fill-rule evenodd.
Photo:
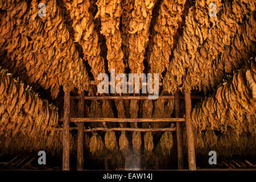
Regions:
M 175 117 L 180 118 L 179 92 L 175 93 Z M 182 123 L 176 122 L 178 169 L 184 169 Z

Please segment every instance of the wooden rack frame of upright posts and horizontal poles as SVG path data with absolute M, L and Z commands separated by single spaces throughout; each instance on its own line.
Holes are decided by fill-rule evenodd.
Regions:
M 110 84 L 110 83 L 109 83 Z M 91 81 L 90 85 L 96 85 L 95 81 Z M 159 86 L 162 86 L 162 82 Z M 158 99 L 174 99 L 175 100 L 175 117 L 176 118 L 84 118 L 84 102 L 85 100 L 123 100 L 123 99 L 137 99 L 146 100 L 147 96 L 85 96 L 82 92 L 79 96 L 70 96 L 69 91 L 64 92 L 64 97 L 57 98 L 59 100 L 64 99 L 64 118 L 60 118 L 59 122 L 63 122 L 63 128 L 56 130 L 63 130 L 63 170 L 69 170 L 69 131 L 78 130 L 77 138 L 77 170 L 84 169 L 84 132 L 90 131 L 176 131 L 177 135 L 177 163 L 178 169 L 184 169 L 184 156 L 183 156 L 183 134 L 181 122 L 185 121 L 187 128 L 187 140 L 188 140 L 188 167 L 189 170 L 196 170 L 196 156 L 195 156 L 195 142 L 193 138 L 193 129 L 191 123 L 191 98 L 201 99 L 201 96 L 191 96 L 191 94 L 185 91 L 185 96 L 179 96 L 179 93 L 175 93 L 175 96 L 159 96 Z M 180 99 L 185 99 L 185 118 L 180 118 Z M 79 100 L 79 117 L 70 118 L 70 100 Z M 77 127 L 69 127 L 70 122 L 76 122 Z M 167 128 L 106 128 L 97 127 L 93 129 L 84 129 L 84 122 L 176 122 L 176 127 Z M 106 125 L 105 125 L 106 126 Z

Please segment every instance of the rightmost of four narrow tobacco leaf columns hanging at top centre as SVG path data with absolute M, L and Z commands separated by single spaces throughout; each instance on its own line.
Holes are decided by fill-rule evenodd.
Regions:
M 154 27 L 155 35 L 151 42 L 151 53 L 148 63 L 150 73 L 158 73 L 162 78 L 162 72 L 168 67 L 171 50 L 174 44 L 174 35 L 184 9 L 185 1 L 164 0 L 160 4 L 159 15 Z

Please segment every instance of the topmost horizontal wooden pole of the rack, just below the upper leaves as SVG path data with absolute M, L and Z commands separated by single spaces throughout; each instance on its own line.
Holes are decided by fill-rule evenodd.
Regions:
M 71 96 L 72 100 L 79 100 L 79 96 Z M 184 96 L 180 96 L 180 99 L 184 99 Z M 191 96 L 191 99 L 199 100 L 205 98 L 204 96 Z M 57 100 L 63 100 L 64 97 L 58 97 Z M 85 96 L 85 100 L 147 100 L 148 96 Z M 158 96 L 158 99 L 174 99 L 174 96 Z

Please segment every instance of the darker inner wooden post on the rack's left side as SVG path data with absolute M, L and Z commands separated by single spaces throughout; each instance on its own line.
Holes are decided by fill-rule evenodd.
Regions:
M 79 117 L 84 118 L 84 92 L 79 96 Z M 78 123 L 77 133 L 77 171 L 82 171 L 84 169 L 84 122 Z

